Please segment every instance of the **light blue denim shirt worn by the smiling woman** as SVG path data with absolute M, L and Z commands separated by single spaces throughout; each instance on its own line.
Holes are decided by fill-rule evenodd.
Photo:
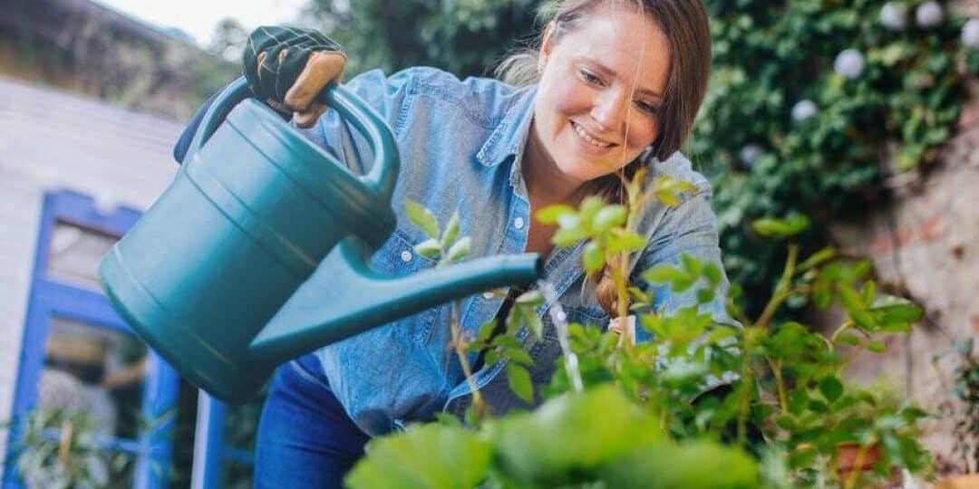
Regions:
M 527 246 L 532 209 L 520 170 L 524 143 L 533 115 L 536 87 L 516 88 L 498 80 L 459 80 L 444 71 L 416 67 L 386 77 L 380 70 L 365 72 L 346 84 L 378 111 L 394 131 L 401 156 L 394 203 L 397 227 L 373 255 L 371 266 L 393 276 L 414 274 L 435 262 L 413 249 L 427 238 L 406 217 L 403 202 L 425 205 L 444 224 L 458 210 L 459 236 L 472 238 L 470 256 L 523 253 Z M 327 111 L 305 135 L 345 161 L 355 173 L 365 173 L 371 158 L 365 141 Z M 660 263 L 676 263 L 682 253 L 721 265 L 711 188 L 680 154 L 666 161 L 650 160 L 648 179 L 671 175 L 694 184 L 696 191 L 680 196 L 676 207 L 651 201 L 641 209 L 639 232 L 648 239 L 637 255 L 633 284 L 646 287 L 638 275 Z M 536 209 L 533 209 L 536 211 Z M 594 281 L 584 281 L 583 243 L 555 248 L 544 261 L 544 278 L 560 296 L 569 322 L 605 329 L 609 317 L 594 297 Z M 321 287 L 328 274 L 314 274 Z M 723 289 L 726 289 L 726 280 Z M 720 297 L 702 307 L 719 321 L 726 316 Z M 654 307 L 666 312 L 695 304 L 692 292 L 653 290 Z M 476 294 L 461 301 L 460 323 L 475 333 L 493 319 L 503 298 Z M 543 339 L 522 332 L 535 366 L 530 369 L 536 389 L 554 372 L 561 351 L 546 308 L 538 308 L 544 324 Z M 439 411 L 461 416 L 469 405 L 465 381 L 449 331 L 450 305 L 423 311 L 366 333 L 323 347 L 316 356 L 330 388 L 350 418 L 371 435 L 428 420 Z M 637 340 L 648 333 L 637 328 Z M 475 354 L 470 357 L 470 362 Z M 505 365 L 497 362 L 475 374 L 476 384 L 489 409 L 500 414 L 527 407 L 509 389 Z

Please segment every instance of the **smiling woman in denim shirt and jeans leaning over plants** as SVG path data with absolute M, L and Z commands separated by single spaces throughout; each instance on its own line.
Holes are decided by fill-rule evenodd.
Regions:
M 398 225 L 372 258 L 392 274 L 432 266 L 412 250 L 424 241 L 399 208 L 405 199 L 430 208 L 442 222 L 459 211 L 473 255 L 539 252 L 544 273 L 570 321 L 607 325 L 614 287 L 608 277 L 586 280 L 582 244 L 553 249 L 555 229 L 532 220 L 555 203 L 577 206 L 584 196 L 620 200 L 621 178 L 640 167 L 694 184 L 695 192 L 667 208 L 640 209 L 646 247 L 631 260 L 639 272 L 675 263 L 683 253 L 721 265 L 710 187 L 679 155 L 704 97 L 710 39 L 700 0 L 565 0 L 554 2 L 539 49 L 503 64 L 504 74 L 532 81 L 521 88 L 493 79 L 460 81 L 417 67 L 386 77 L 368 71 L 346 87 L 381 113 L 394 130 L 401 174 L 394 202 Z M 366 145 L 337 114 L 312 103 L 340 76 L 345 57 L 315 32 L 260 27 L 250 38 L 245 71 L 256 96 L 293 112 L 307 136 L 354 172 L 363 172 Z M 322 116 L 320 114 L 322 113 Z M 311 126 L 311 127 L 310 127 Z M 192 134 L 194 127 L 187 131 Z M 182 153 L 176 152 L 178 159 Z M 322 287 L 328 277 L 315 276 Z M 726 286 L 726 282 L 724 282 Z M 724 293 L 719 293 L 723 297 Z M 655 289 L 655 306 L 671 311 L 695 304 L 688 293 Z M 721 299 L 704 306 L 724 319 Z M 462 301 L 468 332 L 505 309 L 491 294 Z M 560 348 L 545 322 L 543 340 L 528 339 L 537 387 L 554 371 Z M 462 416 L 469 387 L 449 344 L 449 306 L 322 348 L 279 369 L 259 426 L 256 485 L 335 487 L 363 453 L 371 435 L 440 411 Z M 648 333 L 637 331 L 637 339 Z M 470 359 L 471 361 L 475 359 Z M 475 374 L 489 409 L 525 406 L 500 373 Z M 424 454 L 420 454 L 424 456 Z

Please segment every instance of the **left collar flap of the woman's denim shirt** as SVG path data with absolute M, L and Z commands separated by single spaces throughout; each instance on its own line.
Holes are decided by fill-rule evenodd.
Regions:
M 534 119 L 537 86 L 522 88 L 489 139 L 476 155 L 485 166 L 496 166 L 509 157 L 516 158 L 524 149 Z

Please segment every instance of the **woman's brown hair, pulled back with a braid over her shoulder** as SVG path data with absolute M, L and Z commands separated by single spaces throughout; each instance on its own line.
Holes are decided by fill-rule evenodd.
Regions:
M 551 0 L 545 2 L 538 20 L 552 29 L 552 42 L 587 22 L 587 16 L 603 6 L 636 8 L 655 21 L 670 45 L 670 73 L 657 112 L 660 132 L 647 152 L 625 165 L 615 174 L 595 182 L 596 193 L 606 201 L 625 203 L 623 182 L 629 181 L 649 157 L 665 160 L 680 150 L 693 129 L 693 121 L 707 92 L 711 72 L 711 33 L 707 11 L 701 0 Z M 540 77 L 537 45 L 507 56 L 495 69 L 498 78 L 515 85 L 536 83 Z M 598 275 L 595 295 L 599 304 L 615 317 L 616 287 L 611 267 L 619 265 L 618 257 Z

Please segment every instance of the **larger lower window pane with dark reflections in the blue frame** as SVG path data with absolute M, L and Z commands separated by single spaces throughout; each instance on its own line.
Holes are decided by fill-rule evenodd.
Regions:
M 134 439 L 142 419 L 146 347 L 135 336 L 52 318 L 41 408 L 87 413 L 100 435 Z

